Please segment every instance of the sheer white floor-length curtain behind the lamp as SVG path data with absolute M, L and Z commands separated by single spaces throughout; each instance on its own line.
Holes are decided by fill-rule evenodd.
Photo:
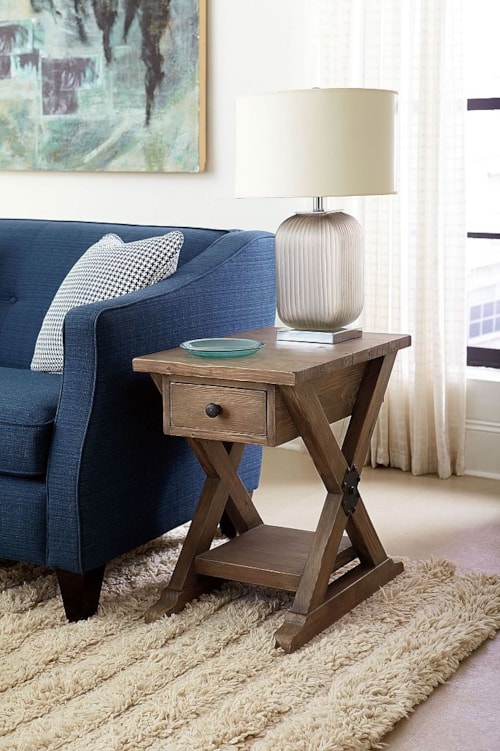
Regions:
M 335 201 L 365 231 L 363 327 L 412 334 L 373 465 L 464 472 L 466 297 L 462 0 L 307 0 L 312 85 L 398 96 L 398 194 Z

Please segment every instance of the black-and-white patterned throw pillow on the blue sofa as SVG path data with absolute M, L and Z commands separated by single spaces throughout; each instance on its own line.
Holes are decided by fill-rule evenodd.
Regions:
M 109 300 L 148 287 L 174 273 L 184 242 L 182 232 L 125 243 L 105 235 L 68 272 L 43 319 L 32 370 L 60 373 L 63 368 L 63 323 L 78 305 Z

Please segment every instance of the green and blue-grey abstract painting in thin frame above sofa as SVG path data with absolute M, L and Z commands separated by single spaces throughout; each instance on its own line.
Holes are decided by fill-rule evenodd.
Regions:
M 206 0 L 2 0 L 0 169 L 200 172 Z

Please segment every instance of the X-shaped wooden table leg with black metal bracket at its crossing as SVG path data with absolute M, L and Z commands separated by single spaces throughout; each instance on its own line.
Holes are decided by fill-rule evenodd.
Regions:
M 389 558 L 357 490 L 395 355 L 367 364 L 342 450 L 311 384 L 281 393 L 328 491 L 293 606 L 275 634 L 292 652 L 403 570 Z M 359 565 L 329 583 L 344 532 Z

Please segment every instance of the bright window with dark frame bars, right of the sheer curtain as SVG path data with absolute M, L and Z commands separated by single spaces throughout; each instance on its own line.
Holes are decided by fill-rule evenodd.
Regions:
M 500 368 L 500 9 L 466 11 L 467 364 Z

